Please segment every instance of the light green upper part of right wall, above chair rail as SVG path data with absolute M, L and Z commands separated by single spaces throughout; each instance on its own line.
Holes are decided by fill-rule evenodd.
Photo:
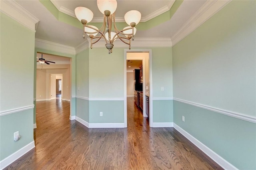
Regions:
M 174 97 L 256 117 L 255 1 L 230 2 L 173 47 Z

